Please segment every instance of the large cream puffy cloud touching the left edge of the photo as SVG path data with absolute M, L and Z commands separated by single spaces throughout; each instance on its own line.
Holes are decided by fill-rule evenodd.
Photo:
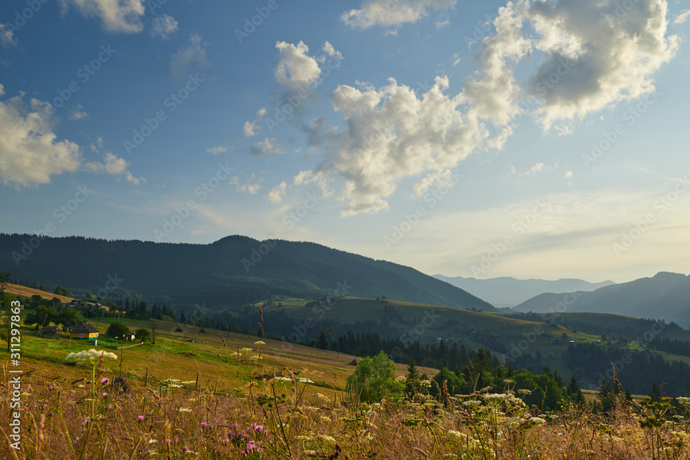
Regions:
M 5 94 L 0 84 L 0 97 Z M 0 100 L 0 178 L 21 186 L 50 183 L 50 177 L 79 169 L 79 146 L 57 135 L 38 111 L 26 110 L 17 97 Z M 32 99 L 32 108 L 45 103 Z

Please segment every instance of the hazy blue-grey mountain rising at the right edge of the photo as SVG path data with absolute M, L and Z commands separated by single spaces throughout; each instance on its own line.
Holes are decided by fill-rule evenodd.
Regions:
M 521 312 L 547 312 L 563 301 L 564 294 L 540 294 L 515 307 Z M 655 318 L 690 327 L 690 276 L 660 272 L 651 278 L 581 292 L 566 312 L 622 314 Z

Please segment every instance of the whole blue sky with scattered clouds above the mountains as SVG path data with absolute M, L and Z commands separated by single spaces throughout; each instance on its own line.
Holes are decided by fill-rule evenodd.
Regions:
M 3 1 L 0 232 L 688 273 L 687 7 Z

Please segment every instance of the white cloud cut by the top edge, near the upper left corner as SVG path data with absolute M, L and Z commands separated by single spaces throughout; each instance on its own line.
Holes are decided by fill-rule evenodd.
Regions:
M 60 0 L 65 14 L 74 6 L 84 17 L 97 17 L 108 32 L 141 32 L 144 24 L 144 0 Z

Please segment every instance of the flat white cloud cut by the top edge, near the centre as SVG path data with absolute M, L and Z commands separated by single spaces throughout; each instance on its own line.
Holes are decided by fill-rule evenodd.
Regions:
M 352 28 L 396 28 L 427 17 L 430 10 L 453 8 L 457 0 L 364 0 L 359 10 L 344 12 L 340 19 Z

